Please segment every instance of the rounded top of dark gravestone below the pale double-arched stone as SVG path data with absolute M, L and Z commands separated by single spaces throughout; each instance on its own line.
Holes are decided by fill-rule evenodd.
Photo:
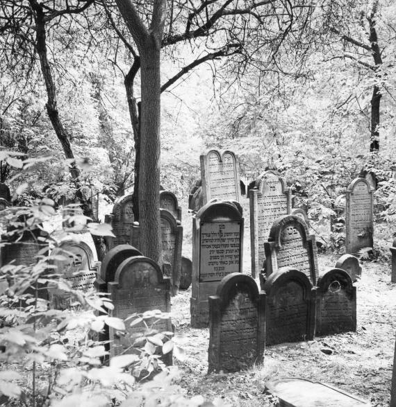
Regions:
M 213 199 L 201 207 L 195 217 L 199 218 L 201 222 L 206 220 L 238 221 L 242 219 L 242 207 L 236 201 Z

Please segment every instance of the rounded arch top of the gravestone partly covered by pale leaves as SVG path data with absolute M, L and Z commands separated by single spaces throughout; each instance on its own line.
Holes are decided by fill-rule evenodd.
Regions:
M 149 268 L 147 268 L 147 264 L 149 264 Z M 131 269 L 133 269 L 133 272 L 129 272 Z M 129 257 L 129 259 L 122 261 L 115 272 L 114 282 L 118 284 L 118 288 L 122 288 L 124 285 L 134 287 L 155 286 L 156 284 L 169 282 L 168 289 L 170 290 L 170 278 L 164 277 L 156 261 L 145 256 Z

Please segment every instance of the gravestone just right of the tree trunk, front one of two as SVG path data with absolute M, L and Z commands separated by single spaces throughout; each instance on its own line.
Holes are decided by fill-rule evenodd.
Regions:
M 183 227 L 167 209 L 160 209 L 161 241 L 163 245 L 163 262 L 170 264 L 172 295 L 179 291 L 181 268 L 181 244 L 183 243 Z

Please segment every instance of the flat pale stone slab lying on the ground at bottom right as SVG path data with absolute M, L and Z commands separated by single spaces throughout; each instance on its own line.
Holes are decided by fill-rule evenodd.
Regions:
M 267 381 L 267 392 L 278 397 L 280 407 L 369 407 L 368 401 L 358 399 L 343 390 L 319 381 L 286 377 Z

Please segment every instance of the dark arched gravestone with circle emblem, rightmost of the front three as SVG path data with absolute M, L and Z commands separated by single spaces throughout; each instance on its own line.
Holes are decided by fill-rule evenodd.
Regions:
M 356 331 L 356 287 L 345 270 L 321 272 L 316 289 L 316 334 Z

